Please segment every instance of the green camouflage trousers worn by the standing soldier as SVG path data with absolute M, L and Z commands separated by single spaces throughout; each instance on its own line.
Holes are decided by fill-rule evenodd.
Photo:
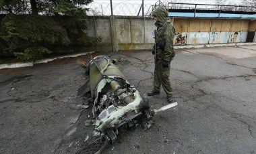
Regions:
M 167 96 L 172 96 L 172 87 L 170 85 L 170 64 L 168 68 L 162 67 L 162 61 L 158 62 L 154 70 L 154 90 L 164 89 Z

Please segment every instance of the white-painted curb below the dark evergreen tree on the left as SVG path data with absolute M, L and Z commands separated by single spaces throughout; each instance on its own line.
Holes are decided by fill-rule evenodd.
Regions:
M 58 60 L 58 59 L 63 59 L 63 58 L 71 58 L 71 57 L 78 57 L 78 56 L 84 56 L 87 54 L 92 54 L 94 52 L 85 52 L 81 54 L 72 54 L 72 55 L 67 55 L 67 56 L 59 56 L 56 58 L 48 58 L 44 60 L 37 60 L 36 62 L 25 62 L 25 63 L 13 63 L 13 64 L 0 64 L 0 70 L 5 69 L 5 68 L 23 68 L 23 67 L 28 67 L 28 66 L 34 66 L 34 64 L 41 64 L 41 63 L 47 63 L 47 62 L 52 62 L 53 60 Z

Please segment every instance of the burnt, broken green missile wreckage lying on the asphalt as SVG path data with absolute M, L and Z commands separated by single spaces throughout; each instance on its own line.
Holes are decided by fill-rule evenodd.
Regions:
M 177 105 L 174 102 L 157 110 L 150 109 L 148 99 L 141 96 L 121 72 L 128 61 L 120 61 L 110 60 L 108 56 L 96 56 L 88 64 L 77 60 L 89 75 L 77 95 L 90 93 L 95 119 L 94 135 L 98 136 L 79 153 L 100 153 L 108 143 L 117 139 L 120 129 L 135 129 L 137 125 L 149 129 L 155 114 Z

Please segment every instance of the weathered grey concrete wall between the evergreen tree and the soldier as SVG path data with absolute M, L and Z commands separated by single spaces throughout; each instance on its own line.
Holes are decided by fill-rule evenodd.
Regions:
M 86 33 L 102 37 L 102 42 L 90 50 L 119 51 L 152 48 L 156 26 L 150 17 L 89 17 Z

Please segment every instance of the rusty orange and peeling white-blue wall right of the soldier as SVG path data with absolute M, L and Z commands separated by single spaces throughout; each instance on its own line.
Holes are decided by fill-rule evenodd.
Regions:
M 246 42 L 249 20 L 174 19 L 175 45 Z M 253 29 L 253 28 L 252 28 Z

